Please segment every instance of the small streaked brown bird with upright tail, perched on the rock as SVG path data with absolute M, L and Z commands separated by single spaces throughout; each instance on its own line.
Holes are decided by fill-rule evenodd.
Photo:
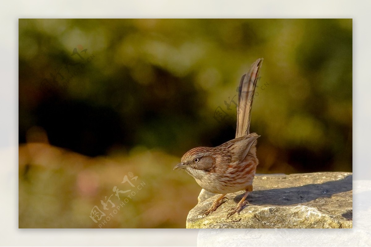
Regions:
M 258 59 L 244 74 L 239 86 L 237 106 L 236 138 L 217 147 L 196 147 L 189 150 L 181 158 L 181 163 L 174 170 L 185 169 L 198 185 L 212 193 L 221 194 L 204 212 L 204 216 L 211 214 L 221 204 L 227 193 L 245 190 L 246 193 L 237 206 L 227 214 L 227 218 L 234 213 L 240 213 L 242 207 L 249 204 L 247 195 L 253 191 L 253 179 L 256 166 L 259 163 L 256 157 L 256 143 L 259 137 L 256 133 L 249 133 L 250 116 L 255 86 L 263 59 Z

